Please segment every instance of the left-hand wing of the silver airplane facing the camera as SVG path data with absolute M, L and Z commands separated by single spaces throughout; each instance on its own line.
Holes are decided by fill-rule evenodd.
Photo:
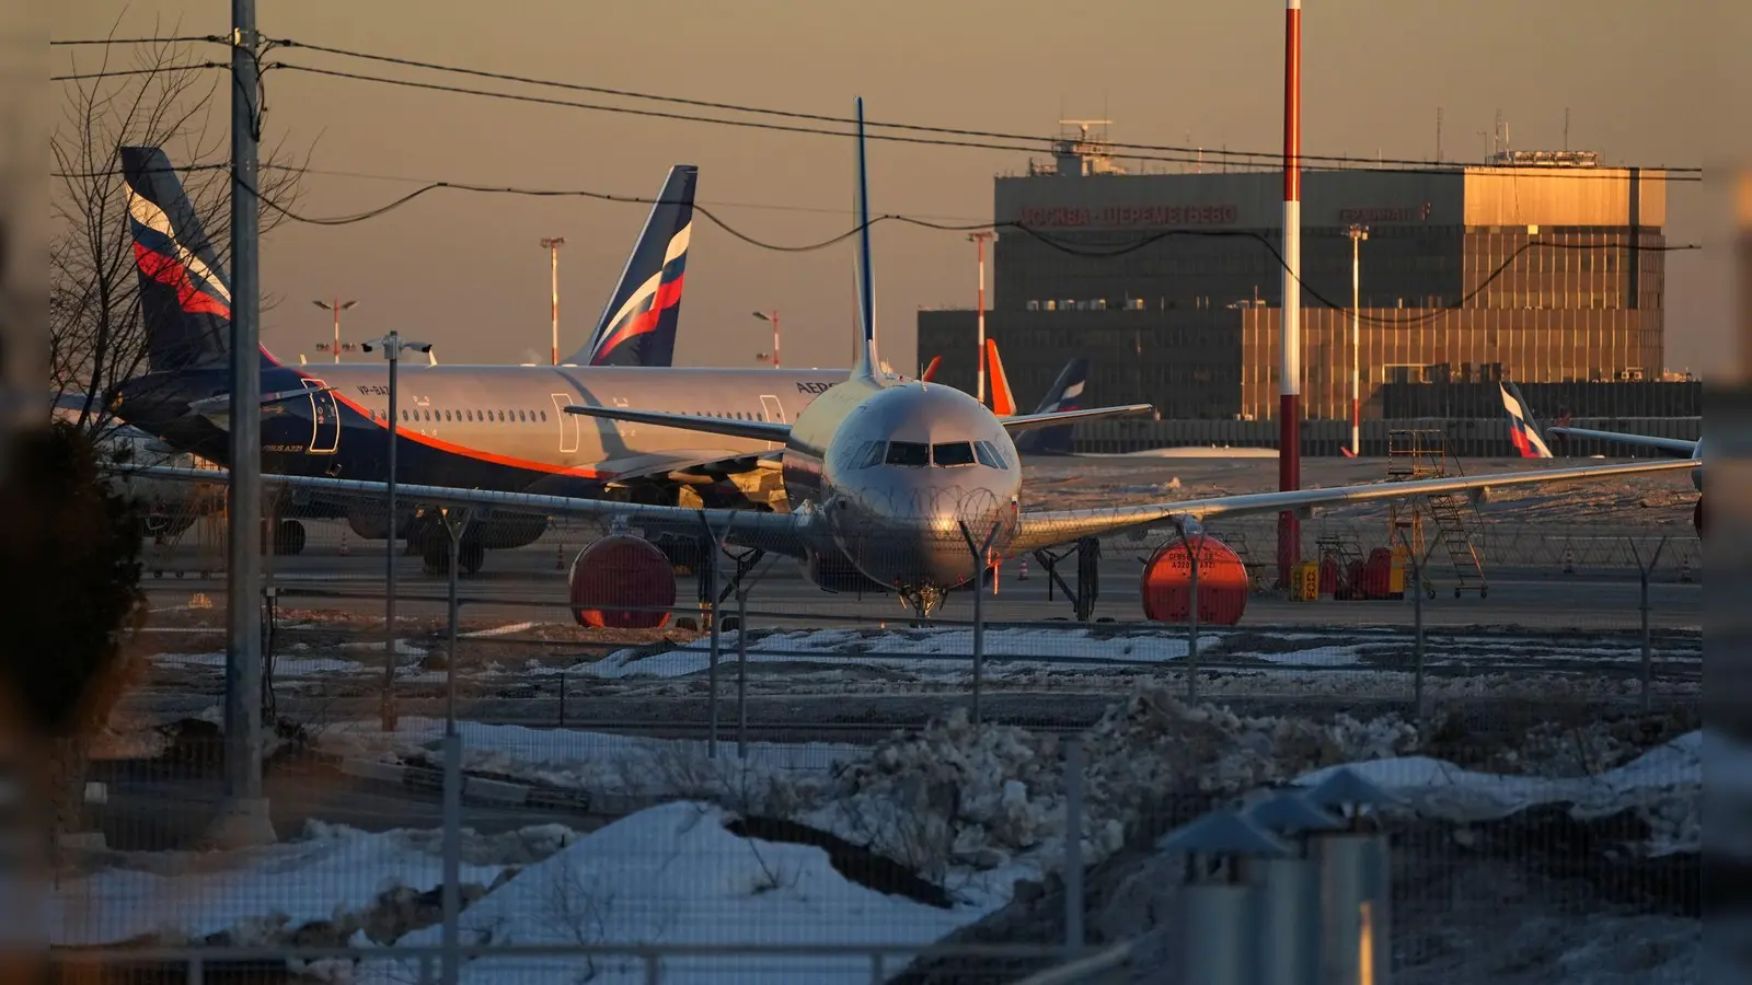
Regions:
M 109 468 L 107 471 L 123 477 L 173 478 L 182 482 L 231 480 L 230 470 L 177 468 L 177 466 L 138 466 Z M 352 498 L 382 503 L 389 492 L 385 482 L 366 482 L 359 478 L 328 478 L 317 475 L 272 475 L 261 477 L 263 485 L 291 487 L 308 492 L 321 492 L 324 498 Z M 452 485 L 412 485 L 396 484 L 396 498 L 408 507 L 449 507 L 468 508 L 485 514 L 540 514 L 548 517 L 585 517 L 601 519 L 604 524 L 624 519 L 627 526 L 646 533 L 703 535 L 708 524 L 738 547 L 759 547 L 787 557 L 801 557 L 816 514 L 799 510 L 790 514 L 769 514 L 762 510 L 689 510 L 683 507 L 652 507 L 641 503 L 617 503 L 611 500 L 582 500 L 573 496 L 547 496 L 540 492 L 496 492 L 491 489 L 459 489 Z

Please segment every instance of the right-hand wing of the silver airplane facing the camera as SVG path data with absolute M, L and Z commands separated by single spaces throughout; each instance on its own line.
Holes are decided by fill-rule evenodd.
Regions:
M 1545 468 L 1533 471 L 1507 471 L 1496 475 L 1456 475 L 1449 478 L 1419 478 L 1412 482 L 1375 482 L 1370 485 L 1340 485 L 1335 489 L 1298 489 L 1293 492 L 1244 492 L 1214 496 L 1211 500 L 1183 500 L 1179 503 L 1141 503 L 1135 507 L 1102 507 L 1093 510 L 1041 510 L 1021 515 L 1021 526 L 1009 550 L 1021 554 L 1081 536 L 1100 536 L 1123 529 L 1148 529 L 1176 522 L 1200 522 L 1211 517 L 1237 517 L 1246 514 L 1277 514 L 1312 507 L 1370 503 L 1375 500 L 1402 500 L 1442 492 L 1475 492 L 1503 485 L 1531 485 L 1537 482 L 1584 482 L 1614 475 L 1642 475 L 1650 471 L 1677 471 L 1696 468 L 1698 459 L 1649 461 L 1629 464 L 1584 464 L 1573 468 Z

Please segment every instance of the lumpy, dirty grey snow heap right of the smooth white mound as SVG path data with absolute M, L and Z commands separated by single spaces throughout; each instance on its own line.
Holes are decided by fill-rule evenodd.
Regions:
M 1121 847 L 1146 815 L 1284 782 L 1316 766 L 1407 752 L 1416 729 L 1398 717 L 1360 722 L 1242 717 L 1188 706 L 1142 685 L 1084 736 L 1083 857 Z M 913 866 L 993 869 L 1048 848 L 1065 833 L 1063 762 L 1053 734 L 974 727 L 957 710 L 897 734 L 846 768 L 825 806 L 801 820 Z

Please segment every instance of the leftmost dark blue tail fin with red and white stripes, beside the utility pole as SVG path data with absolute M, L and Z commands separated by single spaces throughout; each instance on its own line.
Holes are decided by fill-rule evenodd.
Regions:
M 224 363 L 231 352 L 231 282 L 159 147 L 121 147 L 128 235 L 140 277 L 151 372 Z M 263 359 L 277 365 L 263 349 Z

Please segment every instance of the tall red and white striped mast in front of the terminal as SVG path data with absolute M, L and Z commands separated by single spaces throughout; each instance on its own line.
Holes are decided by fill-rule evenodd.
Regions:
M 1302 489 L 1302 0 L 1284 7 L 1284 300 L 1277 382 L 1277 489 Z M 1277 514 L 1277 578 L 1302 559 L 1302 521 Z

